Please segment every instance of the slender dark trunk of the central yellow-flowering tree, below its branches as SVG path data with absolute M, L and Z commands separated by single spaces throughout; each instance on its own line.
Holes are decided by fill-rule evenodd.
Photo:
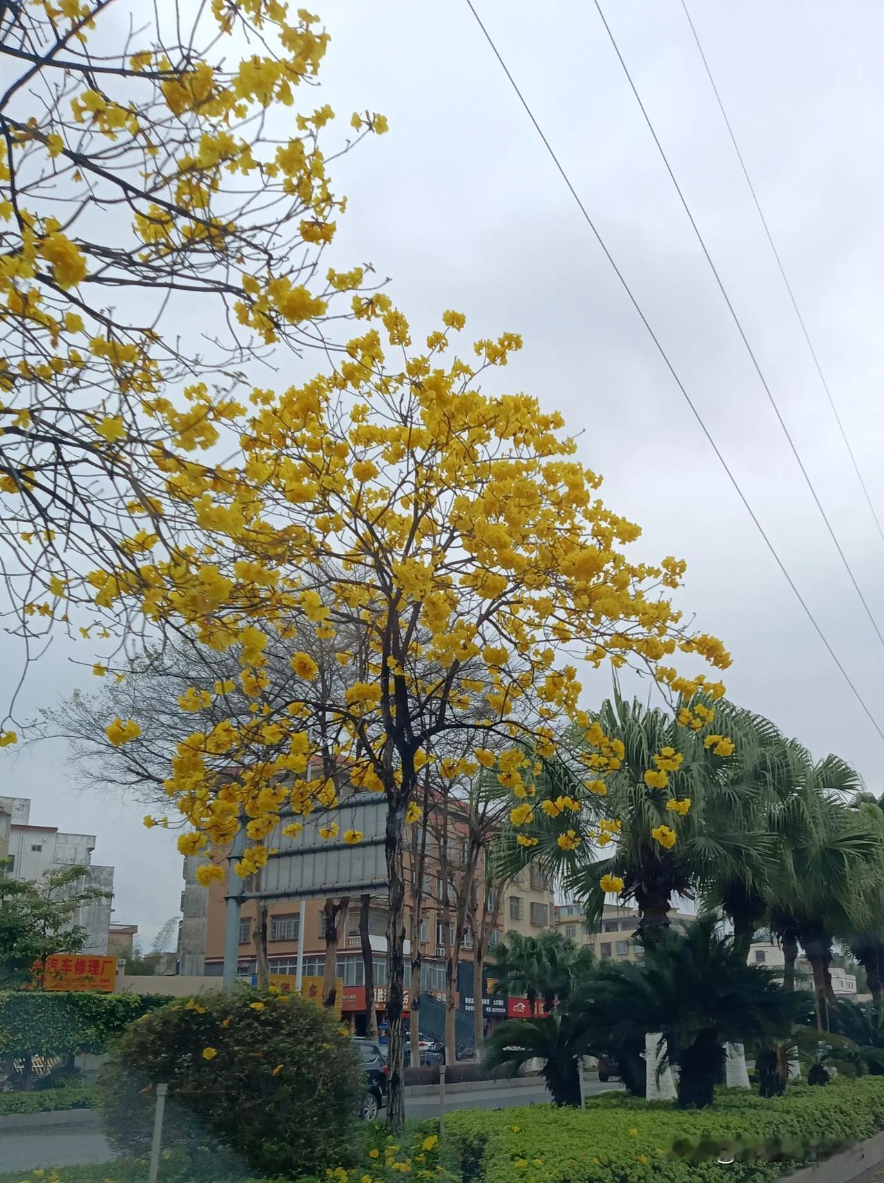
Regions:
M 405 1032 L 402 1030 L 402 991 L 405 988 L 405 874 L 402 868 L 402 825 L 405 802 L 387 802 L 387 828 L 383 851 L 389 885 L 387 916 L 387 1125 L 401 1130 L 405 1125 Z M 417 1054 L 417 1049 L 412 1049 Z

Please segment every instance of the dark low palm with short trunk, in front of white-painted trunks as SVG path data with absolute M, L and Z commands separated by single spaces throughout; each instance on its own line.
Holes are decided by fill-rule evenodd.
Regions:
M 644 964 L 621 971 L 628 993 L 621 995 L 619 1032 L 662 1033 L 663 1064 L 679 1069 L 682 1108 L 711 1105 L 725 1042 L 788 1033 L 799 1004 L 772 970 L 747 965 L 709 916 L 684 936 L 666 931 L 645 940 Z

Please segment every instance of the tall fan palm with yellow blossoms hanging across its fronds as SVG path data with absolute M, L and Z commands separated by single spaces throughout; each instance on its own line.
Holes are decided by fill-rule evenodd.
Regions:
M 716 711 L 724 712 L 722 704 Z M 566 796 L 580 803 L 580 814 L 575 817 L 566 810 L 548 816 L 541 812 L 543 804 L 535 808 L 531 835 L 537 842 L 518 847 L 514 838 L 504 843 L 508 866 L 537 859 L 567 892 L 585 903 L 589 923 L 602 914 L 602 878 L 621 879 L 620 896 L 638 906 L 640 932 L 667 927 L 676 899 L 702 893 L 716 878 L 740 878 L 751 887 L 763 881 L 773 840 L 760 821 L 762 793 L 751 778 L 737 775 L 760 742 L 754 716 L 729 709 L 728 735 L 736 752 L 742 752 L 735 757 L 717 756 L 705 746 L 702 732 L 679 726 L 670 712 L 651 710 L 637 699 L 627 702 L 619 693 L 592 718 L 624 749 L 620 768 L 606 778 L 606 794 L 586 791 L 587 772 L 579 761 L 574 767 L 561 757 L 542 761 L 536 801 Z M 654 769 L 654 757 L 664 749 L 682 757 L 680 768 L 670 772 L 666 788 L 649 787 L 645 774 Z M 690 799 L 683 816 L 667 808 L 673 794 L 679 800 Z M 574 849 L 561 848 L 559 839 L 569 828 L 591 834 L 608 817 L 620 820 L 615 840 L 602 845 L 602 838 L 601 843 L 581 841 Z M 673 846 L 654 840 L 652 830 L 659 826 L 677 832 Z

